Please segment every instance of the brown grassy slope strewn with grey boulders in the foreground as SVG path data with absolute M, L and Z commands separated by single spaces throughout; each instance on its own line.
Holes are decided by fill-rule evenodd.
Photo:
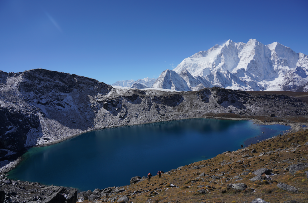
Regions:
M 308 202 L 308 181 L 305 170 L 298 171 L 295 175 L 291 175 L 284 168 L 291 164 L 307 163 L 308 145 L 304 145 L 308 141 L 308 130 L 289 133 L 283 136 L 277 136 L 273 139 L 253 144 L 247 148 L 239 149 L 234 152 L 219 154 L 216 157 L 195 162 L 184 166 L 181 169 L 174 169 L 170 172 L 153 176 L 151 184 L 148 180 L 139 183 L 127 185 L 123 188 L 126 191 L 118 193 L 117 198 L 122 195 L 129 197 L 129 202 L 251 202 L 255 198 L 261 198 L 267 202 L 284 202 L 296 200 L 298 202 Z M 298 143 L 301 146 L 294 152 L 290 152 Z M 260 152 L 275 151 L 278 148 L 285 151 L 273 152 L 263 156 L 259 156 Z M 257 152 L 251 152 L 255 149 Z M 252 157 L 243 157 L 249 154 Z M 241 160 L 238 162 L 238 160 Z M 288 161 L 286 161 L 288 160 Z M 231 163 L 229 163 L 231 162 Z M 193 166 L 204 165 L 199 169 L 193 169 Z M 270 176 L 269 181 L 250 181 L 254 177 L 251 172 L 259 168 L 269 168 L 273 170 L 274 176 Z M 248 175 L 241 175 L 245 169 L 249 169 Z M 308 168 L 306 168 L 308 170 Z M 197 177 L 205 173 L 203 179 Z M 212 176 L 223 174 L 221 179 L 213 180 Z M 154 175 L 154 174 L 153 174 Z M 242 180 L 235 180 L 235 176 L 240 176 Z M 233 178 L 228 181 L 228 179 Z M 298 193 L 286 192 L 277 187 L 278 183 L 285 183 L 298 189 Z M 177 187 L 170 187 L 170 183 Z M 239 191 L 236 189 L 228 189 L 227 184 L 245 183 L 248 188 Z M 206 193 L 198 193 L 197 190 L 205 189 Z M 253 192 L 253 189 L 255 191 Z M 134 191 L 139 193 L 133 194 Z M 152 193 L 152 194 L 151 194 Z M 115 196 L 115 195 L 114 195 Z M 110 197 L 102 197 L 96 202 L 111 202 Z M 85 200 L 83 202 L 92 202 Z M 94 201 L 95 202 L 95 201 Z

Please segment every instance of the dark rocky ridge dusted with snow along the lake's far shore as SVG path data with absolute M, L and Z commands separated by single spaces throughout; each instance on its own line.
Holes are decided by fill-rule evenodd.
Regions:
M 295 92 L 294 92 L 295 93 Z M 237 115 L 284 120 L 305 117 L 305 97 L 219 87 L 160 91 L 112 87 L 74 74 L 34 69 L 0 71 L 0 156 L 53 144 L 87 131 L 187 118 Z M 272 117 L 270 117 L 272 115 Z M 273 116 L 275 115 L 275 117 Z

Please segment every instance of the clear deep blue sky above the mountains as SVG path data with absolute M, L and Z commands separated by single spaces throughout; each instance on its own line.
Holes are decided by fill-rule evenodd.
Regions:
M 0 70 L 157 78 L 231 39 L 308 55 L 308 1 L 0 0 Z

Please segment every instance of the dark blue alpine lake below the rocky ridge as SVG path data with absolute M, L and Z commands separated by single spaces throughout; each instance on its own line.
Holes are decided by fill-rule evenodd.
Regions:
M 124 186 L 131 177 L 209 159 L 250 144 L 244 144 L 249 138 L 266 139 L 289 128 L 248 120 L 188 119 L 102 129 L 31 148 L 9 178 L 81 191 Z

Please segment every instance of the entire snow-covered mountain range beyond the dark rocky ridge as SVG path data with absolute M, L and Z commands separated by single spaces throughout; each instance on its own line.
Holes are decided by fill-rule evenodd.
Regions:
M 274 42 L 264 45 L 255 39 L 248 43 L 228 40 L 207 51 L 184 59 L 173 70 L 165 70 L 151 88 L 195 91 L 221 87 L 244 91 L 308 90 L 308 56 Z M 128 80 L 112 85 L 133 87 Z M 131 81 L 144 85 L 142 80 Z M 140 86 L 142 88 L 147 87 Z

